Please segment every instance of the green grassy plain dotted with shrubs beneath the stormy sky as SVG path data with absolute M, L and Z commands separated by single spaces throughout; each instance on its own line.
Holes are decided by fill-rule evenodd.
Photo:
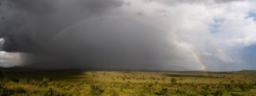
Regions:
M 255 95 L 256 71 L 1 71 L 0 95 Z

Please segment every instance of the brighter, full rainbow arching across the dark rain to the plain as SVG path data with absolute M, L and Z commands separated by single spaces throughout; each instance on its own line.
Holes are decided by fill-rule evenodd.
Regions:
M 80 25 L 80 24 L 84 24 L 86 22 L 90 22 L 90 21 L 94 21 L 94 20 L 98 20 L 98 19 L 105 19 L 105 18 L 126 18 L 126 19 L 133 19 L 135 21 L 141 21 L 141 22 L 146 22 L 150 25 L 154 25 L 155 27 L 157 28 L 160 28 L 162 31 L 166 31 L 168 32 L 168 30 L 165 28 L 165 27 L 162 27 L 160 26 L 160 24 L 157 24 L 155 22 L 151 22 L 151 21 L 148 21 L 146 19 L 141 19 L 141 18 L 137 18 L 137 17 L 133 17 L 133 16 L 96 16 L 96 17 L 92 17 L 92 18 L 87 18 L 87 19 L 84 19 L 82 21 L 79 21 L 79 22 L 76 22 L 72 25 L 69 25 L 68 27 L 66 28 L 63 28 L 62 30 L 60 30 L 59 32 L 57 32 L 54 36 L 51 37 L 50 40 L 48 40 L 48 42 L 46 42 L 43 46 L 42 49 L 44 49 L 47 45 L 49 45 L 49 43 L 51 43 L 54 39 L 56 39 L 57 37 L 59 37 L 60 35 L 62 35 L 63 33 L 65 33 L 66 31 L 70 30 L 71 28 L 74 28 L 76 27 L 77 25 Z M 176 39 L 180 40 L 181 42 L 183 42 L 183 40 L 177 36 L 176 34 L 172 34 L 172 36 L 175 36 Z M 185 45 L 186 46 L 186 45 Z M 200 57 L 197 55 L 196 51 L 193 50 L 193 48 L 190 48 L 189 46 L 186 46 L 188 48 L 188 50 L 190 51 L 190 53 L 193 55 L 194 59 L 196 59 L 196 61 L 201 65 L 202 69 L 204 70 L 204 72 L 207 74 L 207 70 L 204 66 L 204 64 L 202 63 Z

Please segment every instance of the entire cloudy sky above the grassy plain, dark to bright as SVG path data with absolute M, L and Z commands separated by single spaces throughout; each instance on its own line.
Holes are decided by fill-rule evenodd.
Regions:
M 0 66 L 256 69 L 255 6 L 253 0 L 2 0 Z

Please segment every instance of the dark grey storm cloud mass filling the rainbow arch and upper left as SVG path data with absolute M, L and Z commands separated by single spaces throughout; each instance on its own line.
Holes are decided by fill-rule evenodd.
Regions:
M 165 39 L 168 33 L 134 19 L 102 18 L 52 39 L 69 25 L 104 16 L 123 4 L 119 0 L 8 1 L 1 6 L 2 50 L 34 54 L 21 56 L 23 63 L 44 68 L 157 69 L 160 66 L 154 64 L 167 63 L 166 48 L 172 47 Z

